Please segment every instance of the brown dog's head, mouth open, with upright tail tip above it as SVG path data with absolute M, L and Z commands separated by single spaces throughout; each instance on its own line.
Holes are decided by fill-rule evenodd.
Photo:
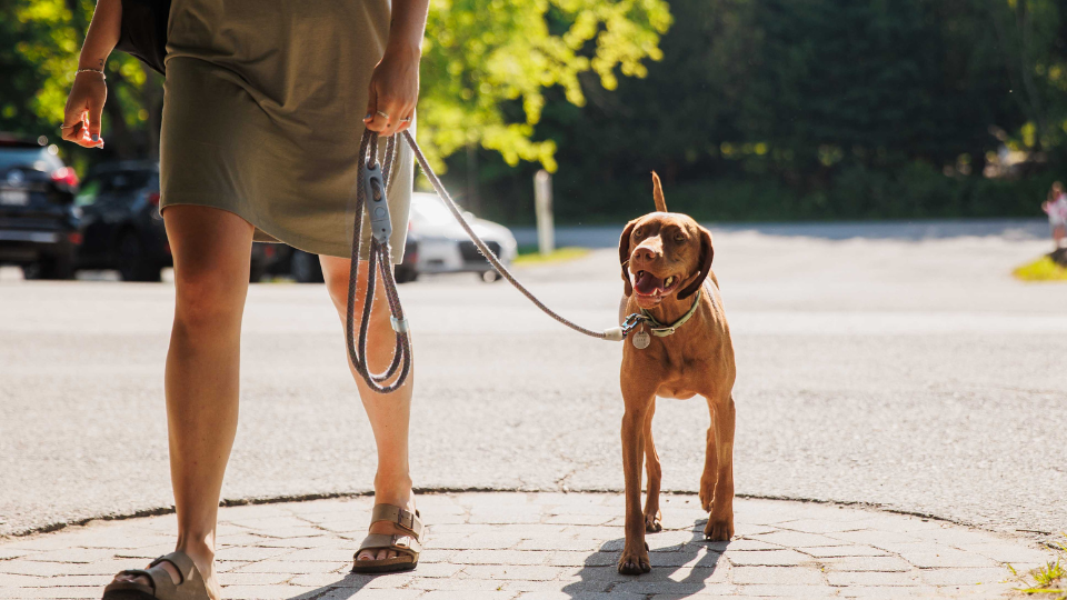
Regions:
M 711 233 L 691 217 L 666 212 L 659 178 L 652 173 L 656 207 L 660 209 L 627 223 L 619 239 L 619 262 L 626 296 L 644 309 L 671 296 L 686 299 L 711 271 Z

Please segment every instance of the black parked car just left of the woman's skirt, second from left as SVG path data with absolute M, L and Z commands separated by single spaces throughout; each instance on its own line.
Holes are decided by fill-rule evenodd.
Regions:
M 86 177 L 74 199 L 81 209 L 80 269 L 116 269 L 123 281 L 159 281 L 173 264 L 159 214 L 159 164 L 104 163 Z

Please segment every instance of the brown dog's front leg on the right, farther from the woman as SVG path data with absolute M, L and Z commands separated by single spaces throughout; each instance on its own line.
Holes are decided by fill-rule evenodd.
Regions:
M 715 472 L 715 484 L 711 493 L 708 524 L 704 534 L 712 541 L 729 541 L 734 537 L 734 426 L 736 411 L 734 397 L 727 396 L 717 402 L 708 401 L 711 407 L 711 427 L 714 433 L 708 433 L 708 450 L 705 458 L 705 477 L 708 463 Z M 714 438 L 712 438 L 714 436 Z M 714 462 L 712 462 L 714 461 Z M 701 482 L 702 483 L 702 482 Z M 704 484 L 700 486 L 701 500 Z

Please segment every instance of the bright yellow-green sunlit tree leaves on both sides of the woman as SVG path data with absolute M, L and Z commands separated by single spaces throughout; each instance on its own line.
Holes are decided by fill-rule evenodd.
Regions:
M 38 134 L 62 120 L 91 0 L 0 0 L 0 124 Z M 427 24 L 419 138 L 438 167 L 468 144 L 505 161 L 555 169 L 556 144 L 531 139 L 542 90 L 585 101 L 578 77 L 612 89 L 618 73 L 641 77 L 660 58 L 670 26 L 662 0 L 433 0 Z M 116 52 L 107 66 L 104 138 L 119 156 L 156 156 L 161 80 Z M 515 110 L 515 106 L 518 110 Z

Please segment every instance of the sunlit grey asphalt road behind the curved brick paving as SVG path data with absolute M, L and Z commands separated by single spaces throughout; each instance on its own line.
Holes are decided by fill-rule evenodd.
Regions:
M 738 493 L 1067 529 L 1067 284 L 1009 276 L 1047 250 L 1040 223 L 957 226 L 716 230 Z M 0 533 L 170 506 L 172 286 L 13 274 L 0 270 Z M 521 277 L 569 317 L 614 324 L 614 250 Z M 621 489 L 619 346 L 473 276 L 401 297 L 418 486 Z M 242 366 L 226 498 L 369 489 L 375 450 L 321 286 L 252 287 Z M 699 399 L 660 401 L 665 489 L 697 489 L 707 424 Z

